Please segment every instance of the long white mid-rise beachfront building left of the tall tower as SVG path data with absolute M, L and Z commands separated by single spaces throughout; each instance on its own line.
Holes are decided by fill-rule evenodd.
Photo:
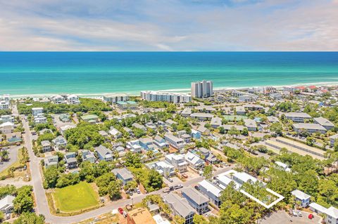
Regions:
M 192 97 L 187 93 L 168 93 L 161 91 L 141 91 L 142 100 L 165 101 L 170 103 L 188 103 Z

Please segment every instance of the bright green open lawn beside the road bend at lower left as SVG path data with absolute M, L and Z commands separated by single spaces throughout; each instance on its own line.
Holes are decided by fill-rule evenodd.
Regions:
M 80 211 L 99 205 L 99 195 L 87 182 L 58 188 L 53 194 L 56 209 L 64 212 Z

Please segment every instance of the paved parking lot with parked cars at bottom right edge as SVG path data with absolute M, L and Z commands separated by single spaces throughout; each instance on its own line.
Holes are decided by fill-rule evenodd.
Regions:
M 285 223 L 297 223 L 297 224 L 318 224 L 320 222 L 320 218 L 315 216 L 313 219 L 308 219 L 308 213 L 303 213 L 303 217 L 299 216 L 289 216 L 285 211 L 277 211 L 270 215 L 270 217 L 265 216 L 261 220 L 261 224 L 285 224 Z

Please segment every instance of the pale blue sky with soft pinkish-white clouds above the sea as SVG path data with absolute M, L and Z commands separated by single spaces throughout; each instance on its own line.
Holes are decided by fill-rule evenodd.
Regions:
M 338 51 L 338 0 L 0 0 L 0 51 Z

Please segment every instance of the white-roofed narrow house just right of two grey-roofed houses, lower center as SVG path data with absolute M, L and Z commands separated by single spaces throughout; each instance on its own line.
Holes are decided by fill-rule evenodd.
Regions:
M 206 196 L 213 204 L 216 206 L 220 206 L 220 195 L 222 192 L 222 188 L 214 185 L 209 180 L 202 180 L 199 183 L 199 191 L 202 195 Z

